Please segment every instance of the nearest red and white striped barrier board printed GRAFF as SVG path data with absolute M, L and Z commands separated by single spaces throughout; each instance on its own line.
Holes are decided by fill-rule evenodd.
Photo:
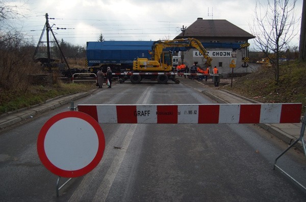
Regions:
M 302 104 L 78 105 L 99 123 L 298 123 Z

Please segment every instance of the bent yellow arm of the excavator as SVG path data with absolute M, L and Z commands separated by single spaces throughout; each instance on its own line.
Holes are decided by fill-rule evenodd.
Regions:
M 159 40 L 152 45 L 152 59 L 161 61 L 161 54 L 164 48 L 167 47 L 185 47 L 187 49 L 196 48 L 202 56 L 206 59 L 206 64 L 211 66 L 212 58 L 208 55 L 207 50 L 202 43 L 195 38 L 176 39 L 176 40 Z

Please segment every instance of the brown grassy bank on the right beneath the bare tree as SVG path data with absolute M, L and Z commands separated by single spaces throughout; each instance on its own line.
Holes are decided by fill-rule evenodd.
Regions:
M 306 107 L 306 63 L 292 62 L 281 66 L 279 82 L 274 81 L 271 68 L 245 75 L 222 88 L 261 103 L 302 103 Z

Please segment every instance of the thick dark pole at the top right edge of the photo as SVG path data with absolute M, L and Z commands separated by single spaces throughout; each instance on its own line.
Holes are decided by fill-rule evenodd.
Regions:
M 306 31 L 305 29 L 306 29 L 306 3 L 305 1 L 303 1 L 300 43 L 299 43 L 299 59 L 301 61 L 306 60 Z

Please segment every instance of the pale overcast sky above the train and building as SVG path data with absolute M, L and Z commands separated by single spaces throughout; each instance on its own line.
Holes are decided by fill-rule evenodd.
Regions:
M 26 1 L 26 0 L 25 0 Z M 261 0 L 266 2 L 266 0 Z M 85 46 L 105 40 L 173 39 L 181 28 L 190 26 L 198 17 L 226 19 L 251 33 L 255 0 L 29 0 L 10 1 L 21 5 L 25 18 L 16 23 L 17 30 L 27 38 L 39 41 L 48 13 L 56 38 L 74 45 Z M 302 0 L 297 1 L 296 17 L 301 16 Z M 66 28 L 66 30 L 57 30 Z M 300 25 L 297 26 L 297 30 Z M 299 33 L 299 32 L 298 32 Z M 298 46 L 299 35 L 292 45 Z M 252 43 L 252 40 L 249 41 Z

